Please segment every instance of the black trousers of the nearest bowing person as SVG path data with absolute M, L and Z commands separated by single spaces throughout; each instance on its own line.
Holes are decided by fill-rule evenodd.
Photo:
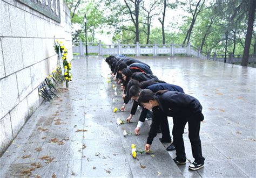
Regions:
M 200 121 L 194 118 L 173 117 L 173 144 L 176 147 L 177 160 L 186 161 L 183 133 L 188 122 L 188 138 L 190 139 L 193 158 L 197 163 L 204 163 L 205 158 L 202 155 L 201 140 L 199 137 Z

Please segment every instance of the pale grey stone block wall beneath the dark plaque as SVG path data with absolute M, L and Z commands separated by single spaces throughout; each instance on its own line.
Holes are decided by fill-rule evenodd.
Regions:
M 53 37 L 72 59 L 70 11 L 63 0 L 60 20 L 17 0 L 0 0 L 0 155 L 43 102 L 37 88 L 57 65 Z

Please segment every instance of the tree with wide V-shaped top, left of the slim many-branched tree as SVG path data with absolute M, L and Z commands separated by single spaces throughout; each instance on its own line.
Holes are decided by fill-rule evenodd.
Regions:
M 142 0 L 130 0 L 130 2 L 134 5 L 134 10 L 131 9 L 131 6 L 129 3 L 127 3 L 126 0 L 124 0 L 126 7 L 129 10 L 131 19 L 132 19 L 132 23 L 135 26 L 135 33 L 136 33 L 136 41 L 139 41 L 139 4 L 140 2 L 142 2 Z

